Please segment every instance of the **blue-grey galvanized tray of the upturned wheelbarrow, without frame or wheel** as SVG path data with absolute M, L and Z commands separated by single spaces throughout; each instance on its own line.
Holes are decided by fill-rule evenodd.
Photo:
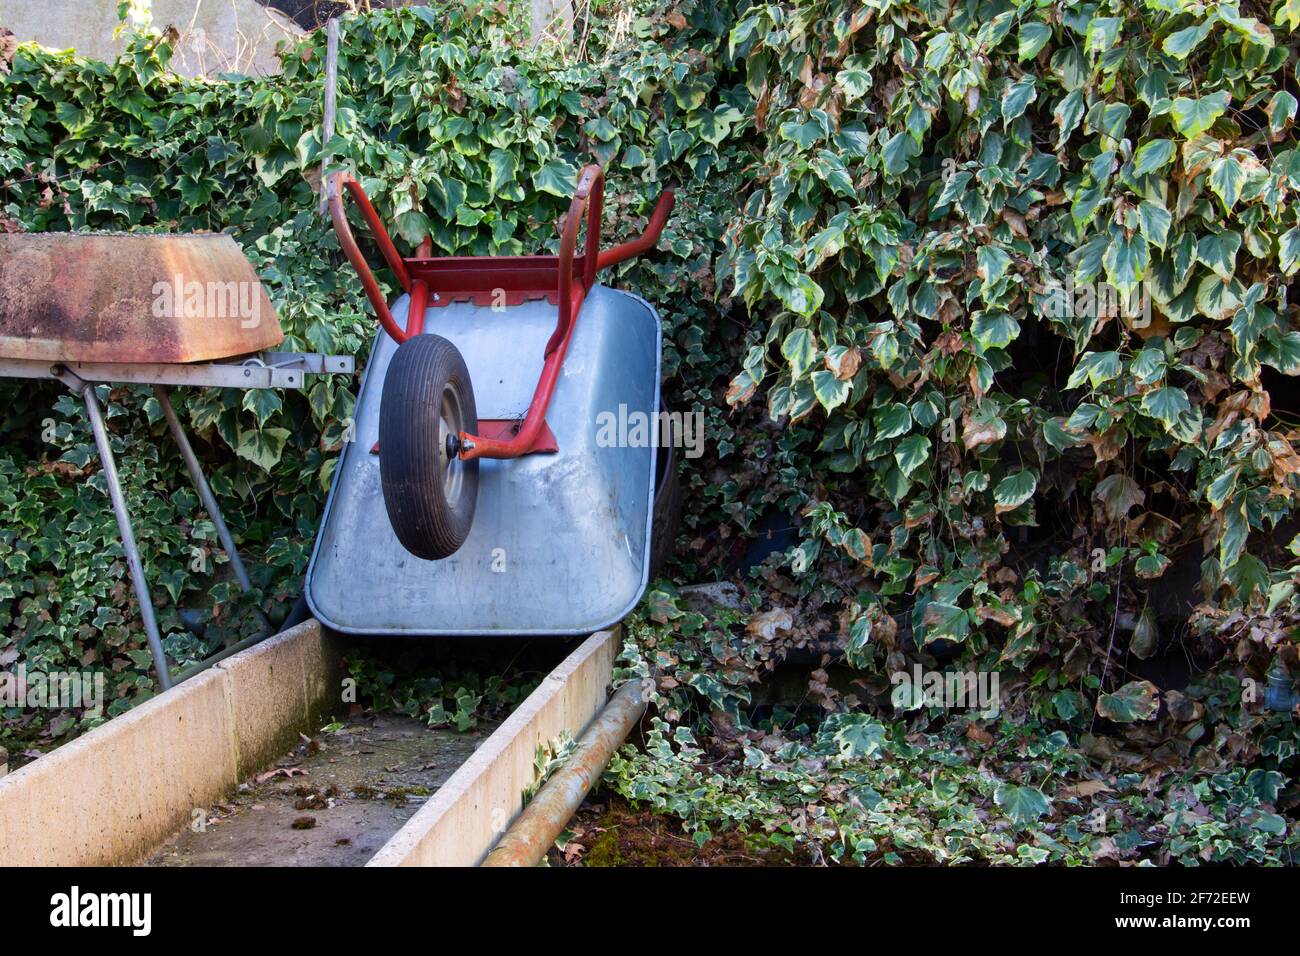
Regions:
M 403 326 L 406 310 L 403 297 L 393 308 Z M 426 321 L 464 355 L 480 420 L 523 416 L 554 329 L 545 302 L 455 303 Z M 559 451 L 481 460 L 473 528 L 442 561 L 398 542 L 370 453 L 395 351 L 381 332 L 307 570 L 312 613 L 348 633 L 426 636 L 584 635 L 621 620 L 649 578 L 655 449 L 598 437 L 602 424 L 633 412 L 653 420 L 659 408 L 655 310 L 628 293 L 590 291 L 546 414 Z

